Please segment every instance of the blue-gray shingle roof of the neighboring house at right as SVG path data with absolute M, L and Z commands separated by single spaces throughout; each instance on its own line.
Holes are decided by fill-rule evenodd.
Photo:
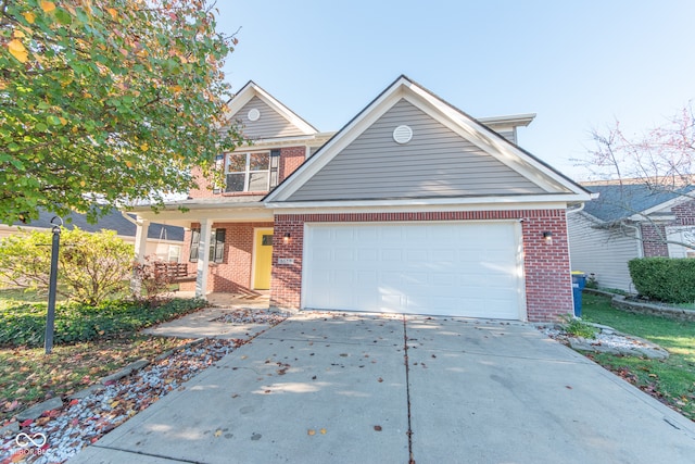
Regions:
M 597 199 L 585 203 L 584 212 L 606 223 L 628 220 L 682 198 L 678 191 L 654 190 L 646 184 L 590 185 L 584 188 L 592 193 L 599 193 Z M 686 187 L 683 192 L 693 188 Z

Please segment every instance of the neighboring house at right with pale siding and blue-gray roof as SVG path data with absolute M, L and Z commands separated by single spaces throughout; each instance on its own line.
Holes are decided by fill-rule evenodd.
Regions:
M 695 202 L 645 184 L 586 184 L 598 198 L 569 214 L 572 269 L 594 274 L 601 287 L 634 292 L 628 261 L 695 258 Z M 668 243 L 667 241 L 672 241 Z

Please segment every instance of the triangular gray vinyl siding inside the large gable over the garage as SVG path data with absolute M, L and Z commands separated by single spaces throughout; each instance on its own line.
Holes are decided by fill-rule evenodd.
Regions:
M 400 125 L 413 129 L 405 145 Z M 543 193 L 510 167 L 401 100 L 289 201 Z

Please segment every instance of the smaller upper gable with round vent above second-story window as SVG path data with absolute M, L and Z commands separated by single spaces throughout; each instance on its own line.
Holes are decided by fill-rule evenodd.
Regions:
M 249 117 L 252 110 L 257 112 L 258 117 L 255 121 Z M 249 80 L 229 101 L 227 111 L 242 124 L 242 133 L 250 139 L 308 136 L 318 133 L 316 127 L 253 80 Z

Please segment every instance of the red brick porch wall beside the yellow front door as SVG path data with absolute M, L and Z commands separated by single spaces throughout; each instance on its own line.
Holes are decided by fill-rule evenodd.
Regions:
M 192 228 L 200 227 L 193 224 Z M 213 228 L 226 229 L 223 263 L 211 263 L 207 291 L 247 293 L 251 291 L 254 228 L 273 227 L 273 223 L 214 223 Z M 186 231 L 181 261 L 188 262 L 189 274 L 194 274 L 198 263 L 189 262 L 191 231 Z M 195 283 L 182 283 L 181 290 L 192 291 Z

